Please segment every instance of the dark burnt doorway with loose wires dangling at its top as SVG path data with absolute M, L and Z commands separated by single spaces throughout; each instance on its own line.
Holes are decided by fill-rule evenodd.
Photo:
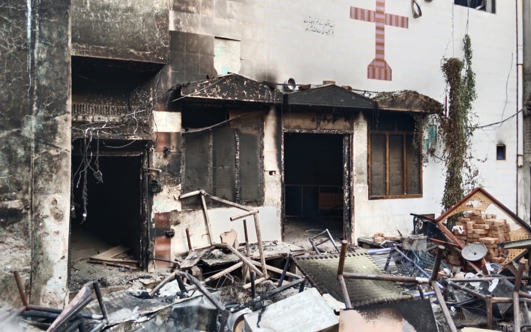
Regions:
M 131 268 L 143 267 L 147 243 L 145 152 L 142 141 L 129 144 L 133 151 L 108 151 L 124 142 L 100 141 L 99 149 L 85 146 L 89 152 L 84 152 L 82 140 L 73 142 L 71 266 L 121 246 L 129 248 L 121 258 L 128 260 Z

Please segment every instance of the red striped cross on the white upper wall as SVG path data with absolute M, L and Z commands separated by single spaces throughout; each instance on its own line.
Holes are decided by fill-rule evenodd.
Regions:
M 376 10 L 350 7 L 350 18 L 376 25 L 375 56 L 367 66 L 367 78 L 373 80 L 391 81 L 392 71 L 385 57 L 386 25 L 398 28 L 408 28 L 409 20 L 405 16 L 386 13 L 386 0 L 376 0 Z

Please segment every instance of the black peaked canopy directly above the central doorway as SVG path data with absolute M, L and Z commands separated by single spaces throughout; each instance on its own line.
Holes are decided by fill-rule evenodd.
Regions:
M 336 86 L 336 84 L 326 84 L 286 93 L 284 95 L 284 104 L 290 106 L 374 109 L 374 101 L 370 98 Z

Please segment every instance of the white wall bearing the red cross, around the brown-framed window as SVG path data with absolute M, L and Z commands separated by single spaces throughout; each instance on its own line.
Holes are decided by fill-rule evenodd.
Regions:
M 410 89 L 444 103 L 441 59 L 463 57 L 462 40 L 468 31 L 474 52 L 477 121 L 487 124 L 515 114 L 516 4 L 498 2 L 496 13 L 491 14 L 453 5 L 451 0 L 418 3 L 423 16 L 413 19 L 410 2 L 386 2 L 387 12 L 409 18 L 409 28 L 386 26 L 385 58 L 392 68 L 392 81 L 380 81 L 367 79 L 367 65 L 374 58 L 375 25 L 349 17 L 350 6 L 374 10 L 374 0 L 247 0 L 242 3 L 241 18 L 232 20 L 231 28 L 241 32 L 241 73 L 277 82 L 292 77 L 299 84 L 333 80 L 362 92 Z M 309 16 L 328 20 L 333 34 L 306 31 Z M 188 27 L 187 31 L 202 31 L 190 29 L 194 30 Z M 430 158 L 423 167 L 422 198 L 368 199 L 366 123 L 358 118 L 354 128 L 355 237 L 381 231 L 396 234 L 396 229 L 408 233 L 413 227 L 410 212 L 439 215 L 444 175 L 436 158 Z M 475 161 L 481 184 L 515 211 L 516 129 L 515 117 L 498 128 L 478 130 L 473 140 L 474 157 L 481 160 Z M 498 143 L 507 146 L 506 161 L 495 160 Z

